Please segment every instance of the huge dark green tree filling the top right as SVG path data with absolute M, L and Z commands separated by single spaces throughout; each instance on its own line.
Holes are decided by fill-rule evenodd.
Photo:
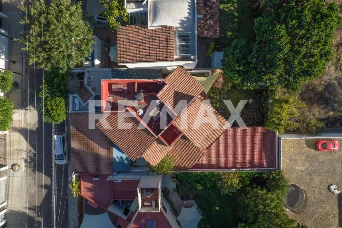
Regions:
M 269 0 L 254 20 L 255 42 L 235 41 L 224 51 L 223 74 L 249 89 L 263 82 L 299 91 L 323 74 L 331 60 L 334 30 L 341 25 L 336 2 Z

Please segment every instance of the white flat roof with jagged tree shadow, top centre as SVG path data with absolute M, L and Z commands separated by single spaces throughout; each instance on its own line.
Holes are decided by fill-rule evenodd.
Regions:
M 194 0 L 150 0 L 149 26 L 173 26 L 181 30 L 195 27 Z

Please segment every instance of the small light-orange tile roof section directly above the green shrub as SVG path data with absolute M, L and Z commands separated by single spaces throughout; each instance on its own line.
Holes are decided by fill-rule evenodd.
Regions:
M 149 164 L 155 166 L 167 155 L 172 148 L 168 147 L 160 139 L 155 140 L 141 155 Z

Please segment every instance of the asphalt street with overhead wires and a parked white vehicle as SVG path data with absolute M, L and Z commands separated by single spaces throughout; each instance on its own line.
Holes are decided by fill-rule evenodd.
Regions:
M 28 73 L 28 107 L 35 107 L 29 114 L 27 141 L 32 151 L 26 157 L 29 169 L 28 181 L 28 223 L 27 227 L 68 226 L 68 165 L 54 163 L 52 150 L 53 132 L 65 132 L 66 123 L 52 125 L 43 122 L 40 112 L 40 86 L 43 71 L 26 68 Z M 27 85 L 26 85 L 27 86 Z M 25 99 L 26 100 L 26 99 Z M 26 100 L 27 102 L 27 100 Z

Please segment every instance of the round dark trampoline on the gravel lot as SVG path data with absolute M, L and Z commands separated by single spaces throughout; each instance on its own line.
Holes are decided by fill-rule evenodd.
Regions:
M 307 203 L 307 194 L 298 185 L 291 183 L 285 194 L 284 207 L 295 214 L 304 211 Z

